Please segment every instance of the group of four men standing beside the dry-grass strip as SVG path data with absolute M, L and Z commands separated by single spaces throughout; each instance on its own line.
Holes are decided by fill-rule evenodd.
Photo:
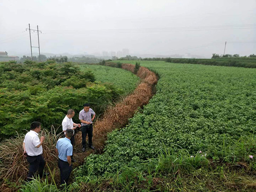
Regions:
M 65 134 L 64 138 L 57 141 L 55 152 L 58 155 L 58 167 L 60 169 L 61 184 L 68 183 L 70 173 L 72 171 L 72 162 L 75 162 L 73 158 L 73 146 L 75 142 L 75 129 L 81 127 L 82 132 L 82 151 L 86 150 L 86 137 L 88 134 L 88 146 L 94 149 L 93 138 L 93 120 L 95 119 L 95 112 L 90 108 L 88 103 L 84 104 L 84 108 L 79 112 L 80 123 L 74 123 L 72 118 L 75 116 L 75 111 L 69 109 L 67 115 L 62 121 L 62 130 Z M 30 125 L 30 131 L 25 135 L 23 141 L 23 155 L 29 162 L 29 173 L 27 180 L 30 181 L 38 171 L 39 177 L 46 176 L 44 172 L 45 161 L 43 154 L 42 144 L 45 137 L 40 139 L 38 133 L 41 131 L 40 122 L 32 122 Z

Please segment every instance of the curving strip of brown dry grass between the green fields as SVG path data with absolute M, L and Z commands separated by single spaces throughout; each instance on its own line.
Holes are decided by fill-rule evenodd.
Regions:
M 122 64 L 122 69 L 134 72 L 134 65 Z M 102 151 L 105 145 L 107 134 L 115 128 L 122 127 L 128 123 L 138 107 L 146 105 L 152 96 L 152 86 L 157 83 L 157 76 L 145 67 L 140 67 L 137 76 L 142 79 L 142 83 L 116 106 L 110 107 L 105 111 L 102 119 L 98 120 L 93 126 L 93 145 Z M 76 148 L 81 150 L 81 133 L 76 135 Z

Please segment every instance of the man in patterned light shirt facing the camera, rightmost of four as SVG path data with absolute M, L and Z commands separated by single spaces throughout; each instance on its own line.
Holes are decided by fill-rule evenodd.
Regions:
M 93 116 L 93 118 L 92 118 Z M 85 151 L 86 148 L 86 136 L 88 133 L 88 145 L 90 148 L 93 147 L 93 120 L 95 118 L 95 112 L 90 108 L 88 103 L 84 104 L 84 109 L 79 113 L 79 119 L 82 124 L 82 151 Z

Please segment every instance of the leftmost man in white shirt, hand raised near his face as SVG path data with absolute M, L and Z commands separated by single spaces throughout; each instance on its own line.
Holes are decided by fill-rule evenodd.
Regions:
M 30 131 L 25 135 L 23 141 L 23 155 L 29 162 L 29 174 L 27 180 L 32 180 L 35 173 L 38 171 L 39 176 L 43 177 L 45 161 L 42 156 L 43 148 L 42 144 L 44 142 L 44 136 L 39 140 L 38 133 L 41 131 L 41 122 L 32 122 L 30 125 Z

